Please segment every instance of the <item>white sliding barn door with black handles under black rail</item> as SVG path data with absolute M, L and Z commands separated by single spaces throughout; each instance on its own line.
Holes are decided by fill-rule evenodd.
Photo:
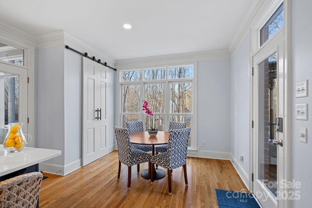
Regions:
M 108 154 L 107 67 L 82 57 L 82 165 Z

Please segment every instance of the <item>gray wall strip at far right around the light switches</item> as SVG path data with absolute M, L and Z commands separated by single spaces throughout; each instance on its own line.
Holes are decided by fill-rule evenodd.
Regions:
M 292 200 L 293 208 L 311 206 L 312 189 L 312 1 L 292 1 L 292 178 L 301 182 L 300 200 Z M 308 97 L 295 98 L 295 83 L 308 79 Z M 295 104 L 308 103 L 308 121 L 295 119 Z M 308 143 L 299 141 L 299 127 L 308 129 Z

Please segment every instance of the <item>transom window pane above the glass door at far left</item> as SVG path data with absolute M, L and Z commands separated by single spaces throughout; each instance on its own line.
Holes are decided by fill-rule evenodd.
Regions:
M 24 50 L 0 43 L 0 60 L 23 66 Z

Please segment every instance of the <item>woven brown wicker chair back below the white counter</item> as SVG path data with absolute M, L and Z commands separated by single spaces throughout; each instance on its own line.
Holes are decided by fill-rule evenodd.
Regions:
M 30 172 L 0 182 L 1 208 L 36 208 L 43 175 Z

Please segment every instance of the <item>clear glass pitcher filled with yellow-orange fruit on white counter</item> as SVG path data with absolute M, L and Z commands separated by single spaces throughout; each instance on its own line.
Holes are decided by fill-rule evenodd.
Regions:
M 6 151 L 16 152 L 22 151 L 25 144 L 28 144 L 31 140 L 29 133 L 23 133 L 21 130 L 23 123 L 9 123 L 8 133 L 6 134 L 3 142 L 3 148 Z M 25 138 L 27 136 L 27 140 Z

